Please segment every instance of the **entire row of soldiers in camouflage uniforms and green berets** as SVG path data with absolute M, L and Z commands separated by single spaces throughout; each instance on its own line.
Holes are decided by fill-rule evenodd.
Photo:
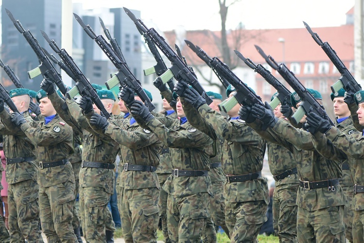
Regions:
M 297 124 L 284 104 L 274 111 L 268 104 L 236 104 L 226 119 L 216 107 L 218 94 L 204 94 L 215 100 L 209 106 L 183 81 L 173 93 L 156 86 L 165 98 L 165 114 L 150 112 L 133 90 L 122 88 L 118 104 L 125 115 L 106 119 L 90 98 L 65 99 L 49 80 L 37 92 L 39 121 L 29 114 L 29 91 L 10 91 L 21 114 L 9 114 L 0 101 L 11 242 L 42 242 L 39 218 L 48 242 L 77 242 L 72 219 L 78 181 L 85 240 L 111 240 L 115 227 L 107 203 L 118 153 L 116 191 L 126 242 L 155 242 L 160 217 L 166 242 L 215 242 L 215 226 L 232 242 L 255 242 L 269 202 L 261 172 L 266 146 L 281 242 L 344 242 L 345 237 L 364 242 L 358 132 L 364 128 L 364 91 L 331 95 L 335 128 L 314 113 Z M 320 93 L 309 91 L 321 102 Z M 234 92 L 229 86 L 228 99 Z M 111 113 L 113 93 L 98 90 L 98 95 Z M 291 98 L 298 107 L 299 97 Z M 81 143 L 77 173 L 69 160 Z

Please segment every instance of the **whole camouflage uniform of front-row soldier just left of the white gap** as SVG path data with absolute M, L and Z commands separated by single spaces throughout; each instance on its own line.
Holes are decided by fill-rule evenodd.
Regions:
M 260 174 L 265 141 L 244 121 L 227 121 L 207 104 L 196 111 L 186 103 L 183 109 L 191 124 L 215 140 L 217 135 L 225 139 L 222 152 L 222 168 L 227 178 L 225 223 L 232 242 L 256 241 L 260 228 L 267 220 L 265 213 L 269 203 L 267 182 Z M 239 175 L 254 179 L 233 182 L 234 178 L 242 178 L 234 177 Z

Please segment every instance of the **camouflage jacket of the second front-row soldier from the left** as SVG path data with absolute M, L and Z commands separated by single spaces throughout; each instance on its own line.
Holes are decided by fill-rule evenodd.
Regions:
M 72 128 L 58 115 L 45 124 L 44 121 L 30 121 L 21 125 L 21 130 L 34 143 L 39 162 L 52 162 L 68 159 L 74 153 Z M 50 187 L 75 182 L 71 163 L 38 170 L 38 184 Z

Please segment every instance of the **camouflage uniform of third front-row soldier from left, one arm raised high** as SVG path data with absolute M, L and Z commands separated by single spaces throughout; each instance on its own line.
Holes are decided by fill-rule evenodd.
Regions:
M 54 108 L 62 118 L 83 135 L 83 161 L 113 164 L 119 151 L 117 143 L 107 136 L 97 134 L 88 124 L 82 110 L 74 100 L 65 101 L 57 94 L 49 96 Z M 107 230 L 114 231 L 115 224 L 107 207 L 114 193 L 115 172 L 110 169 L 82 167 L 79 174 L 80 218 L 83 236 L 87 242 L 105 241 Z

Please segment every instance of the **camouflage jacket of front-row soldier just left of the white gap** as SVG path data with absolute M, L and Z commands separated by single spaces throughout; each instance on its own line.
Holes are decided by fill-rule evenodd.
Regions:
M 225 174 L 242 175 L 260 172 L 263 169 L 265 141 L 242 120 L 228 121 L 224 116 L 203 104 L 197 111 L 184 104 L 183 110 L 191 124 L 215 141 L 224 139 L 221 153 Z M 266 179 L 261 177 L 244 182 L 225 183 L 226 200 L 231 203 L 264 200 L 269 202 Z

